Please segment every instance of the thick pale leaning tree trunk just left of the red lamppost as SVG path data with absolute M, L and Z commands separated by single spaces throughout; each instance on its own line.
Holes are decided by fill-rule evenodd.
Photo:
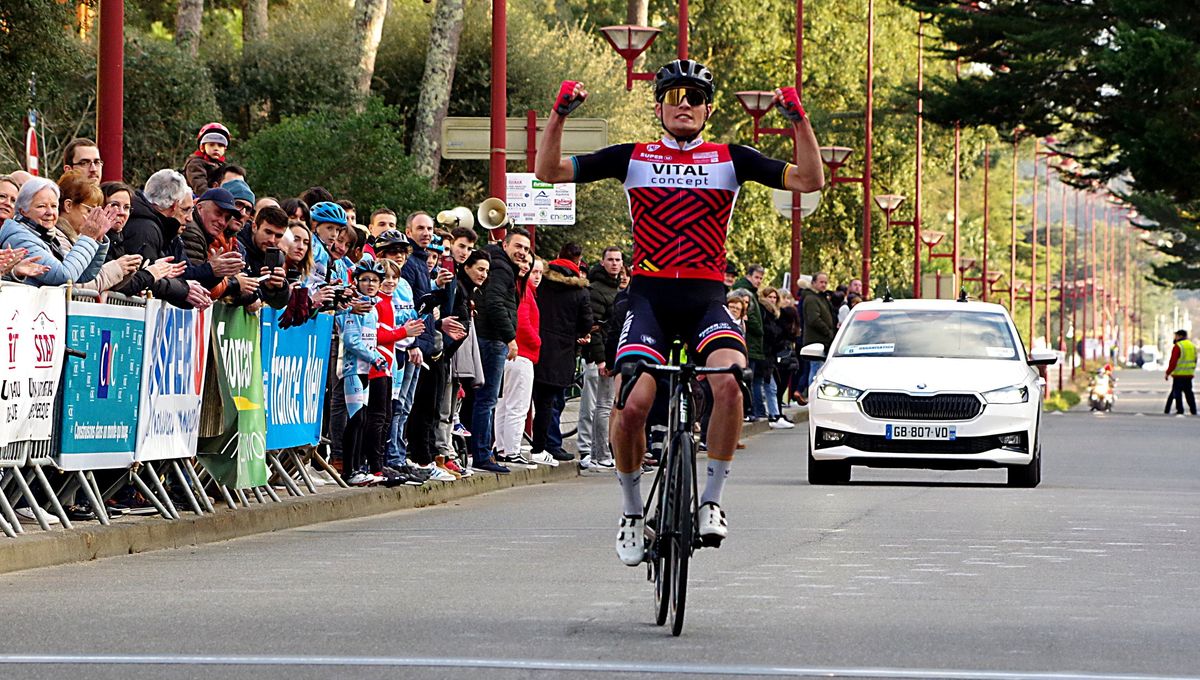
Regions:
M 430 49 L 425 54 L 421 98 L 413 128 L 413 166 L 419 174 L 430 177 L 433 186 L 437 186 L 442 166 L 442 121 L 450 107 L 462 17 L 463 0 L 438 0 L 430 26 Z

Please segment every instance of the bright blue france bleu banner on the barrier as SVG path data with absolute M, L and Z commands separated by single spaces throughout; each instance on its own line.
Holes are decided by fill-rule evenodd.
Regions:
M 320 441 L 334 318 L 318 314 L 280 329 L 281 312 L 263 307 L 263 384 L 266 385 L 266 449 Z

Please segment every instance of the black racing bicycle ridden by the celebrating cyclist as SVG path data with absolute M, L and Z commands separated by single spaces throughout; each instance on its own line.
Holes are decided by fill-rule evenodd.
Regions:
M 622 387 L 616 404 L 617 409 L 625 408 L 634 385 L 643 374 L 652 375 L 655 380 L 666 380 L 670 393 L 667 439 L 642 516 L 647 518 L 646 579 L 654 583 L 654 622 L 662 626 L 670 618 L 671 634 L 676 637 L 683 632 L 688 562 L 691 554 L 702 547 L 696 522 L 700 510 L 694 434 L 697 379 L 701 375 L 733 375 L 743 398 L 748 401 L 750 397 L 746 385 L 752 380 L 752 373 L 748 368 L 736 365 L 709 368 L 679 363 L 679 349 L 678 343 L 672 347 L 667 365 L 638 361 L 622 366 Z

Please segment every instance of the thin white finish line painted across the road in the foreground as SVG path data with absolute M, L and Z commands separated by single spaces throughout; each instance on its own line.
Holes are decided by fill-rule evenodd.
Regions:
M 601 662 L 522 658 L 436 658 L 364 656 L 187 656 L 187 655 L 0 655 L 0 666 L 250 666 L 494 668 L 504 670 L 656 673 L 671 675 L 767 675 L 778 678 L 863 678 L 898 680 L 1200 680 L 1192 675 L 1073 673 L 1055 670 L 956 670 L 922 668 L 820 668 L 787 666 L 716 666 L 703 663 Z

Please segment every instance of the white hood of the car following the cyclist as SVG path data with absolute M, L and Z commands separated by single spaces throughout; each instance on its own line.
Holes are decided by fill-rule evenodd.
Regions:
M 1025 383 L 1032 373 L 1020 361 L 838 356 L 826 362 L 822 377 L 859 390 L 986 392 Z

